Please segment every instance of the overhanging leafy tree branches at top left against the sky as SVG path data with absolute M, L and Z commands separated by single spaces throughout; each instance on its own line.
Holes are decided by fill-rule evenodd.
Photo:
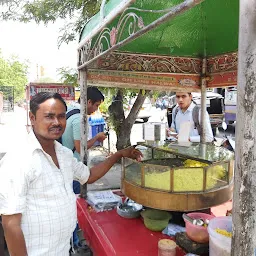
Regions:
M 68 43 L 78 39 L 85 22 L 92 17 L 100 7 L 101 0 L 3 0 L 2 20 L 20 22 L 54 23 L 58 19 L 66 22 L 61 28 L 58 44 Z

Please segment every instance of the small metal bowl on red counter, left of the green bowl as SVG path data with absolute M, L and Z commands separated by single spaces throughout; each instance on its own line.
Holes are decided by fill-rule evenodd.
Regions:
M 143 206 L 133 201 L 124 202 L 117 205 L 117 214 L 127 219 L 133 219 L 140 217 L 140 211 Z

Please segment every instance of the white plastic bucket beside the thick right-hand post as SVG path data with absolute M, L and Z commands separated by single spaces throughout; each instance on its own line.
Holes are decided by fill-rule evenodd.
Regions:
M 231 255 L 231 238 L 221 235 L 215 231 L 216 228 L 232 232 L 232 217 L 216 217 L 210 220 L 208 231 L 210 235 L 209 251 L 210 256 Z

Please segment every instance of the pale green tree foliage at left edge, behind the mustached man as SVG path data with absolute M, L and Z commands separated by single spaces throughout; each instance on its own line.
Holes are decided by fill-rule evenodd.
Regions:
M 5 59 L 0 52 L 0 85 L 14 86 L 14 99 L 19 101 L 25 98 L 27 80 L 27 63 L 22 63 L 17 57 Z

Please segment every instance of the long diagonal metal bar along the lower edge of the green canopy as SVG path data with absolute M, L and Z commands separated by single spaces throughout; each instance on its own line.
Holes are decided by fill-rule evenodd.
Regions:
M 156 21 L 150 23 L 148 26 L 146 26 L 146 27 L 142 28 L 141 30 L 135 32 L 134 34 L 132 34 L 128 38 L 124 39 L 123 41 L 115 44 L 113 47 L 105 50 L 104 52 L 98 54 L 94 58 L 92 58 L 92 59 L 88 60 L 87 62 L 83 63 L 82 65 L 78 66 L 78 70 L 83 69 L 84 67 L 90 65 L 95 60 L 105 56 L 106 54 L 108 54 L 108 53 L 110 53 L 114 50 L 117 50 L 121 46 L 126 45 L 127 43 L 129 43 L 129 42 L 133 41 L 134 39 L 144 35 L 148 31 L 158 27 L 159 25 L 163 24 L 164 22 L 169 21 L 172 18 L 175 18 L 176 16 L 178 16 L 178 15 L 182 14 L 183 12 L 191 9 L 192 7 L 200 4 L 203 1 L 204 0 L 185 0 L 181 4 L 178 4 L 178 5 L 174 6 L 167 14 L 163 15 L 161 18 L 159 18 Z M 85 43 L 87 41 L 83 40 L 83 44 L 81 44 L 81 43 L 79 44 L 78 50 L 80 50 L 83 47 L 83 45 L 85 45 Z

